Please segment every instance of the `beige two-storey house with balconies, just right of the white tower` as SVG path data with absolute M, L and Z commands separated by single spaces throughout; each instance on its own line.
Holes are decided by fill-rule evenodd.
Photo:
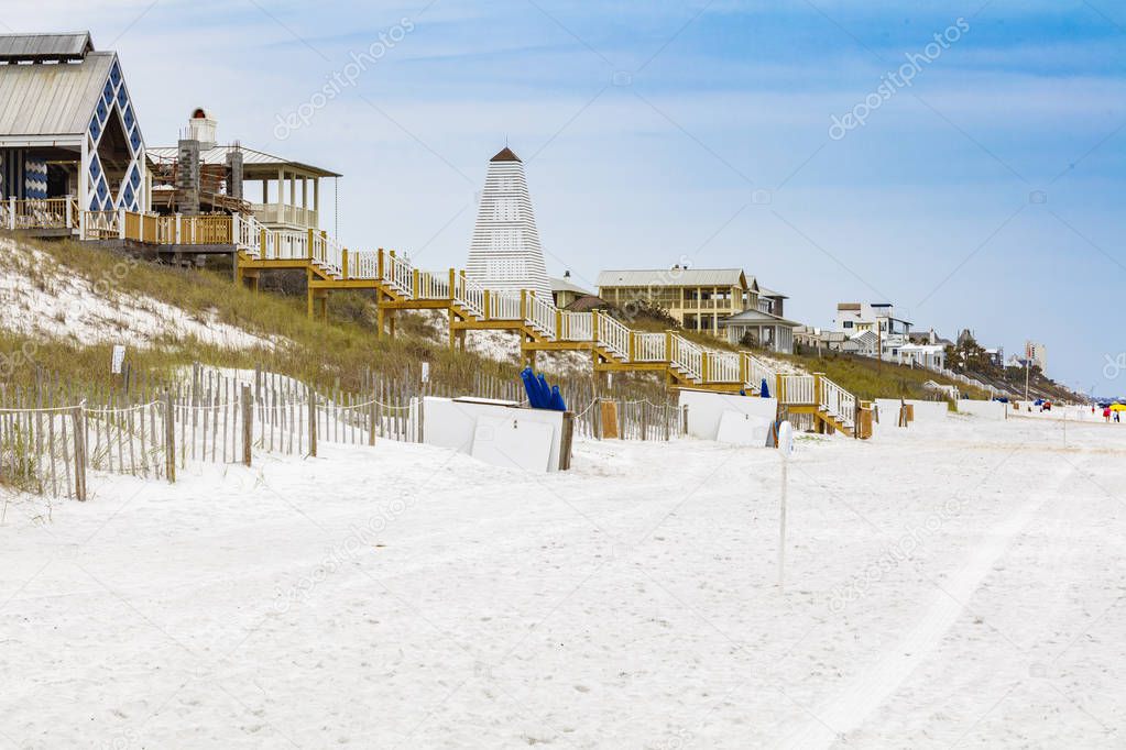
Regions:
M 725 335 L 721 320 L 759 308 L 759 284 L 742 269 L 602 271 L 598 296 L 616 307 L 647 301 L 662 308 L 687 331 Z

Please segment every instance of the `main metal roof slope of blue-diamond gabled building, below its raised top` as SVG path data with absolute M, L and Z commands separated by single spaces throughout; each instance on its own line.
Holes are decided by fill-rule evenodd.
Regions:
M 116 58 L 91 52 L 80 63 L 0 65 L 0 137 L 86 133 Z

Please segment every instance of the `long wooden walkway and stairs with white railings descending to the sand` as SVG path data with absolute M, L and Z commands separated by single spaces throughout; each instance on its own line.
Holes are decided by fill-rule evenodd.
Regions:
M 0 227 L 75 227 L 81 240 L 128 240 L 157 246 L 230 246 L 239 283 L 258 288 L 262 271 L 304 272 L 309 315 L 327 315 L 334 290 L 375 292 L 378 333 L 395 335 L 400 310 L 443 310 L 449 318 L 449 345 L 464 350 L 468 331 L 510 331 L 519 336 L 524 359 L 535 365 L 542 351 L 587 352 L 596 372 L 654 372 L 672 388 L 759 396 L 763 382 L 776 389 L 780 410 L 810 414 L 819 430 L 867 436 L 866 406 L 824 376 L 784 376 L 751 352 L 711 350 L 676 331 L 634 331 L 599 313 L 558 309 L 534 291 L 501 292 L 468 279 L 464 270 L 414 268 L 394 251 L 349 251 L 324 232 L 267 229 L 253 217 L 154 216 L 124 210 L 81 211 L 69 201 L 43 206 L 0 206 Z

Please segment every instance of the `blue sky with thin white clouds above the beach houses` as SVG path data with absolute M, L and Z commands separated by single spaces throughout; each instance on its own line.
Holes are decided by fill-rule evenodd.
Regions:
M 553 273 L 738 265 L 804 323 L 891 299 L 915 327 L 1042 341 L 1049 374 L 1126 392 L 1107 367 L 1126 352 L 1118 2 L 42 0 L 0 21 L 116 48 L 150 145 L 203 105 L 221 139 L 343 172 L 349 246 L 464 264 L 507 139 Z M 355 84 L 314 100 L 381 34 Z

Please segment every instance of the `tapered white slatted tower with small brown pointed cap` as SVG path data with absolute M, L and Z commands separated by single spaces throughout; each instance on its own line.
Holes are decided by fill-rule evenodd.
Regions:
M 531 289 L 552 301 L 524 162 L 508 146 L 489 160 L 465 273 L 485 289 Z

